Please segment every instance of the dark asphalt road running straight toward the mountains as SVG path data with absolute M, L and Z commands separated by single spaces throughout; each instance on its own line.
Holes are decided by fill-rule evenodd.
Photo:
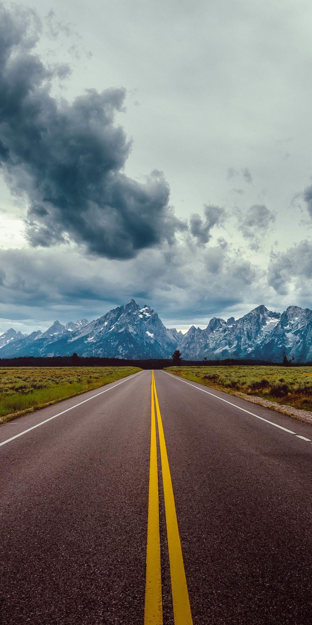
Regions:
M 0 426 L 1 624 L 311 624 L 312 427 L 152 379 Z

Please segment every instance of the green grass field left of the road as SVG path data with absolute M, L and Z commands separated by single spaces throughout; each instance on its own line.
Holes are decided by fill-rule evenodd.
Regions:
M 139 367 L 0 367 L 0 423 L 137 371 Z

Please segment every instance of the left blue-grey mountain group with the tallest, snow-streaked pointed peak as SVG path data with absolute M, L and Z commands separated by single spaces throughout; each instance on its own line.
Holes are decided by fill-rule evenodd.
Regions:
M 1 349 L 0 357 L 68 356 L 76 352 L 79 356 L 164 358 L 177 347 L 177 339 L 157 312 L 147 305 L 140 308 L 134 299 L 90 323 L 82 319 L 63 326 L 55 321 L 46 332 L 32 335 L 12 341 L 9 348 Z

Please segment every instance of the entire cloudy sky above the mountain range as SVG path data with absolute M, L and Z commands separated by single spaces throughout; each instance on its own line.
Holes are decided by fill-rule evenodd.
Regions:
M 311 2 L 0 2 L 0 332 L 312 307 Z

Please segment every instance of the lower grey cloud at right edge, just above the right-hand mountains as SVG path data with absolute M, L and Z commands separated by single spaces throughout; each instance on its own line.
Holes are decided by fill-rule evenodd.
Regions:
M 286 295 L 294 286 L 296 296 L 312 287 L 312 242 L 300 241 L 286 252 L 271 252 L 268 266 L 268 284 L 280 295 Z

